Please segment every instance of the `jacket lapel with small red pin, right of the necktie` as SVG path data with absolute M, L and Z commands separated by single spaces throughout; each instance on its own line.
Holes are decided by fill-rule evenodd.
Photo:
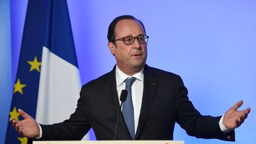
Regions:
M 140 131 L 143 129 L 149 111 L 151 110 L 153 100 L 155 98 L 155 92 L 158 85 L 158 81 L 154 76 L 155 75 L 152 72 L 151 68 L 148 65 L 145 65 L 142 107 L 140 109 L 139 124 L 137 126 L 135 139 L 137 139 L 137 137 L 140 134 Z

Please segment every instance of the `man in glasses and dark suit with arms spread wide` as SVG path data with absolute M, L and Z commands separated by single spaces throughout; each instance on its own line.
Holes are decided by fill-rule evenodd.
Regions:
M 127 89 L 116 139 L 172 140 L 177 122 L 191 136 L 235 140 L 233 129 L 250 108 L 238 111 L 239 101 L 223 116 L 202 116 L 180 76 L 146 65 L 147 42 L 141 21 L 130 15 L 115 18 L 108 28 L 108 48 L 117 61 L 113 70 L 82 87 L 75 113 L 62 123 L 37 124 L 18 110 L 24 120 L 10 119 L 17 132 L 40 140 L 79 140 L 92 127 L 98 140 L 113 140 L 121 90 Z

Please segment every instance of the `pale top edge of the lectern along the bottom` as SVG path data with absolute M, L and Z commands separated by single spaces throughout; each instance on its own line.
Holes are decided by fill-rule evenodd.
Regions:
M 33 144 L 184 144 L 172 140 L 97 140 L 97 141 L 35 141 Z

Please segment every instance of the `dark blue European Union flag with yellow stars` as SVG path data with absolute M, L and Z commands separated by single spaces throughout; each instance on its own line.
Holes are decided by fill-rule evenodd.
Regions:
M 46 6 L 44 0 L 28 1 L 18 71 L 9 111 L 9 116 L 16 120 L 22 119 L 17 112 L 18 108 L 22 108 L 31 117 L 36 117 Z M 12 123 L 8 123 L 5 143 L 24 144 L 27 143 L 27 137 L 20 136 L 15 132 Z

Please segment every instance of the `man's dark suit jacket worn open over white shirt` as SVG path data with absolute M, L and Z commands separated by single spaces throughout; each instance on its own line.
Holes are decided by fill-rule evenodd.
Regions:
M 115 69 L 116 66 L 111 72 L 82 87 L 76 111 L 69 120 L 41 125 L 41 140 L 79 140 L 91 127 L 97 140 L 113 140 L 120 107 Z M 235 140 L 233 130 L 223 135 L 219 128 L 220 117 L 201 116 L 188 100 L 187 94 L 180 76 L 146 65 L 135 139 L 172 140 L 174 124 L 177 122 L 190 136 Z M 123 116 L 120 117 L 117 139 L 132 139 Z

